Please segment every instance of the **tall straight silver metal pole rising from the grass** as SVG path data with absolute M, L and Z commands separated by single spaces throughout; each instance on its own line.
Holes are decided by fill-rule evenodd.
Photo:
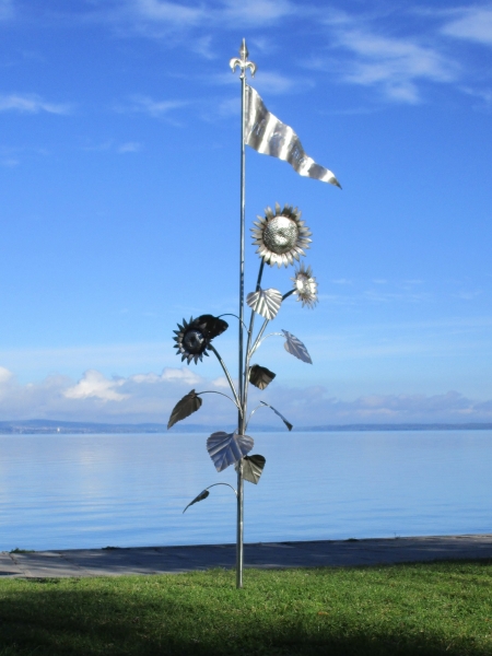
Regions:
M 242 410 L 238 412 L 238 433 L 244 435 L 244 226 L 246 211 L 246 147 L 245 147 L 245 109 L 246 109 L 246 71 L 241 72 L 241 255 L 239 255 L 239 363 L 238 394 Z M 244 538 L 244 481 L 243 461 L 237 468 L 237 525 L 236 525 L 236 588 L 243 587 L 243 538 Z

